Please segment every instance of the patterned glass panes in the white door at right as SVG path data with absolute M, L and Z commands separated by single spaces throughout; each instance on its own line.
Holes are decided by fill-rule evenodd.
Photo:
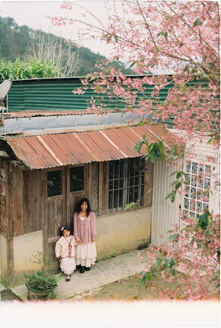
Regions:
M 183 201 L 183 219 L 199 218 L 204 208 L 209 207 L 210 165 L 186 162 L 186 183 Z

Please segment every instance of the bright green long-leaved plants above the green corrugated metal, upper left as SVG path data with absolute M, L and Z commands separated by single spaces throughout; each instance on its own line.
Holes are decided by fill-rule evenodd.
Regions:
M 19 80 L 31 78 L 57 77 L 60 69 L 56 68 L 50 61 L 46 63 L 43 59 L 29 59 L 22 61 L 16 58 L 15 62 L 1 59 L 1 80 Z

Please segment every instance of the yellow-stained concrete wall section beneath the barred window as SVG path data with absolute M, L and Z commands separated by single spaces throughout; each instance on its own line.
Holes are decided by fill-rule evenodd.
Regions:
M 98 216 L 96 222 L 98 260 L 150 242 L 151 206 Z

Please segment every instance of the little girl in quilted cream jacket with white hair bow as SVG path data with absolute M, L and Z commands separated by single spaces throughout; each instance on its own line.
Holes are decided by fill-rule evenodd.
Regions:
M 70 281 L 71 273 L 76 269 L 74 246 L 77 243 L 70 233 L 71 230 L 69 227 L 62 227 L 62 236 L 58 239 L 55 245 L 55 255 L 56 258 L 61 257 L 61 271 L 67 275 L 66 281 Z

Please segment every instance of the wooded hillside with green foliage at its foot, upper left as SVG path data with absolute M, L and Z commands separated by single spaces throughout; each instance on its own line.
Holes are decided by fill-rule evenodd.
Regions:
M 66 55 L 68 55 L 69 46 L 67 46 L 67 43 L 63 42 L 64 41 L 63 38 L 55 36 L 54 34 L 51 34 L 51 33 L 45 33 L 40 30 L 33 30 L 26 25 L 18 26 L 15 23 L 15 21 L 13 20 L 13 18 L 11 18 L 11 17 L 4 17 L 4 18 L 1 17 L 1 34 L 0 34 L 1 58 L 5 59 L 5 61 L 7 63 L 8 63 L 8 61 L 14 63 L 16 60 L 18 60 L 17 58 L 21 58 L 21 62 L 26 63 L 27 47 L 29 45 L 31 45 L 33 41 L 35 41 L 35 43 L 38 44 L 38 42 L 43 37 L 46 40 L 48 38 L 54 39 L 56 41 L 56 44 L 61 43 L 62 49 L 66 49 L 67 50 Z M 71 46 L 70 51 L 75 53 L 76 47 Z M 91 73 L 94 71 L 100 72 L 100 69 L 97 68 L 95 65 L 97 63 L 100 63 L 101 60 L 105 60 L 106 59 L 105 56 L 102 56 L 99 53 L 96 54 L 96 53 L 90 51 L 90 49 L 85 48 L 85 47 L 79 48 L 78 51 L 79 51 L 78 57 L 80 60 L 80 62 L 79 62 L 80 69 L 77 72 L 78 76 L 86 76 L 88 73 Z M 64 65 L 65 60 L 67 61 L 65 56 L 64 56 L 64 61 L 62 62 L 62 65 Z M 2 65 L 3 65 L 3 62 L 1 62 L 1 69 L 2 69 Z M 43 76 L 44 74 L 42 73 L 41 69 L 39 69 L 39 68 L 36 68 L 36 70 L 37 70 L 38 74 L 40 74 L 40 76 L 39 75 L 36 75 L 36 76 L 31 75 L 30 76 L 29 74 L 31 74 L 32 70 L 31 70 L 31 72 L 28 72 L 29 68 L 27 67 L 27 65 L 25 65 L 25 67 L 23 67 L 23 65 L 21 65 L 21 72 L 24 69 L 25 69 L 25 72 L 22 73 L 22 75 L 19 75 L 19 73 L 17 74 L 18 67 L 16 66 L 16 68 L 17 68 L 16 69 L 16 68 L 13 68 L 13 65 L 11 65 L 8 68 L 8 73 L 5 72 L 3 75 L 1 75 L 1 79 L 3 80 L 3 76 L 4 77 L 11 76 L 11 77 L 7 77 L 7 78 L 13 77 L 13 79 L 35 78 L 35 77 L 58 77 L 58 76 L 61 77 L 62 73 L 63 73 L 62 65 L 61 65 L 61 71 L 59 72 L 59 75 L 57 74 L 58 72 L 56 72 L 56 73 L 52 72 L 52 75 L 50 75 L 50 70 L 48 70 L 47 71 L 48 73 L 45 76 Z M 9 64 L 8 64 L 8 66 L 9 66 Z M 49 66 L 52 69 L 52 67 L 55 66 L 55 63 L 53 63 L 53 65 L 52 65 L 52 62 L 51 62 L 49 64 Z M 109 63 L 107 65 L 107 67 L 115 67 L 116 69 L 121 68 L 122 72 L 125 74 L 134 74 L 133 70 L 131 70 L 130 68 L 126 69 L 124 67 L 124 64 L 121 61 L 119 61 L 118 57 L 115 58 L 114 62 Z M 26 72 L 26 70 L 27 70 L 27 72 Z M 45 68 L 43 69 L 43 71 L 45 71 Z M 11 75 L 10 75 L 10 72 L 11 72 Z M 28 74 L 28 77 L 27 77 L 27 74 Z M 74 75 L 74 73 L 73 73 L 72 76 L 76 76 L 76 75 Z M 5 77 L 5 79 L 6 79 L 6 77 Z

